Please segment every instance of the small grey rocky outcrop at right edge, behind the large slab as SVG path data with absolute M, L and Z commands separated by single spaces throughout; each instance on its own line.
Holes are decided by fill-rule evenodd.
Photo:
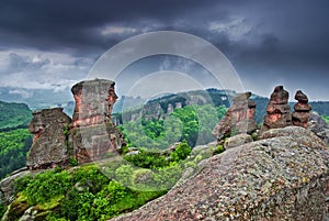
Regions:
M 308 122 L 308 130 L 319 136 L 327 145 L 329 145 L 329 124 L 317 113 L 311 112 Z

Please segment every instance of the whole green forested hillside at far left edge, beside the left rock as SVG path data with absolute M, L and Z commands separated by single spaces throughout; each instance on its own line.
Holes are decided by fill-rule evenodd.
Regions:
M 32 144 L 27 124 L 32 111 L 24 103 L 0 101 L 0 179 L 25 166 Z

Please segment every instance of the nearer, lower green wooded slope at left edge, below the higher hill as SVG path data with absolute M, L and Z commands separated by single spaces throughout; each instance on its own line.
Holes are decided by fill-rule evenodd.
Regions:
M 25 166 L 31 145 L 32 136 L 27 129 L 0 132 L 0 179 Z

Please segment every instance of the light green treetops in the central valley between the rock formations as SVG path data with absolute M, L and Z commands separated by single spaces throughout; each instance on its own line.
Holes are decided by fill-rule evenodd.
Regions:
M 174 109 L 167 120 L 125 122 L 120 129 L 128 146 L 168 148 L 175 142 L 186 141 L 190 146 L 209 143 L 214 140 L 212 130 L 226 113 L 224 106 L 185 106 Z

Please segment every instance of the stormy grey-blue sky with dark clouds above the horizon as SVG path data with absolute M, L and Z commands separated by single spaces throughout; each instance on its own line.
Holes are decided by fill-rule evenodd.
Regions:
M 22 95 L 68 90 L 115 44 L 178 31 L 223 52 L 246 90 L 269 97 L 284 85 L 291 93 L 302 89 L 310 100 L 329 100 L 328 22 L 327 0 L 2 0 L 0 87 Z M 163 67 L 202 71 L 189 59 L 156 57 L 128 67 L 116 88 L 124 93 L 128 79 Z

